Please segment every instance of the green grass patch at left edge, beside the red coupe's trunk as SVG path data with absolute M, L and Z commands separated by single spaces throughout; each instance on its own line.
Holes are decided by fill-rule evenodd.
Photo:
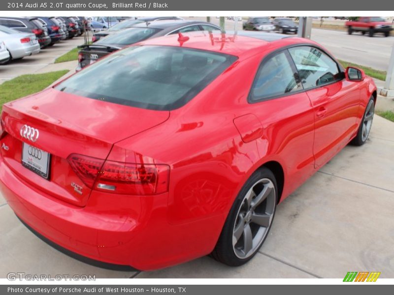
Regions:
M 4 103 L 45 89 L 68 70 L 18 76 L 0 85 L 0 113 Z

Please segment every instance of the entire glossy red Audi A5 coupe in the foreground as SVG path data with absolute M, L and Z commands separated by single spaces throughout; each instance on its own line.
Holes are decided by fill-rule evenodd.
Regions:
M 365 143 L 375 101 L 371 78 L 307 39 L 151 39 L 4 104 L 0 188 L 33 233 L 99 266 L 239 266 L 278 203 Z

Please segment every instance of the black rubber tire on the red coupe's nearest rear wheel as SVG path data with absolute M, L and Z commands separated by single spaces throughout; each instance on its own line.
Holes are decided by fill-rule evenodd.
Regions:
M 269 181 L 269 180 L 270 180 L 269 185 L 271 185 L 270 186 L 271 187 L 270 193 L 269 193 L 268 197 L 266 197 L 264 199 L 264 201 L 262 201 L 261 203 L 258 203 L 260 205 L 257 206 L 257 207 L 265 206 L 264 210 L 267 210 L 266 208 L 270 208 L 269 211 L 271 213 L 269 214 L 269 216 L 270 216 L 269 225 L 267 227 L 264 227 L 263 236 L 261 236 L 262 239 L 261 239 L 261 241 L 259 241 L 256 244 L 256 248 L 251 248 L 251 250 L 249 252 L 247 252 L 249 254 L 245 258 L 240 258 L 235 254 L 236 244 L 233 246 L 233 243 L 232 243 L 233 235 L 235 232 L 235 226 L 237 225 L 236 222 L 240 221 L 239 218 L 242 215 L 240 213 L 241 212 L 240 210 L 243 207 L 243 205 L 246 204 L 244 202 L 247 199 L 247 197 L 246 197 L 247 193 L 250 192 L 253 187 L 257 187 L 257 185 L 259 184 L 258 183 L 259 181 Z M 258 183 L 258 184 L 256 185 L 256 183 Z M 265 184 L 262 183 L 262 185 L 265 185 Z M 263 189 L 264 189 L 264 187 L 265 186 L 263 186 Z M 273 187 L 273 190 L 272 190 L 272 187 Z M 256 198 L 258 198 L 258 197 L 256 197 Z M 253 198 L 252 200 L 256 200 L 256 199 Z M 249 260 L 251 260 L 257 254 L 260 247 L 263 245 L 265 238 L 268 236 L 269 230 L 272 225 L 272 220 L 275 216 L 277 200 L 278 200 L 278 189 L 277 189 L 275 176 L 273 175 L 273 173 L 269 169 L 267 169 L 265 167 L 258 169 L 255 173 L 252 174 L 251 177 L 249 177 L 249 179 L 246 181 L 246 183 L 242 187 L 241 191 L 239 192 L 238 196 L 236 197 L 234 204 L 232 205 L 232 207 L 230 209 L 229 215 L 227 216 L 226 222 L 223 226 L 222 233 L 221 233 L 219 240 L 215 246 L 215 249 L 211 253 L 211 257 L 223 264 L 228 265 L 228 266 L 241 266 L 241 265 L 247 263 Z M 263 204 L 264 202 L 266 202 L 266 204 Z M 268 205 L 268 202 L 269 202 L 269 205 Z M 253 210 L 253 213 L 256 213 L 256 212 Z M 264 213 L 262 213 L 262 214 L 266 215 L 265 213 L 266 213 L 266 211 L 264 211 Z M 248 216 L 248 214 L 246 214 L 246 216 Z M 243 224 L 247 224 L 249 226 L 249 230 L 250 230 L 252 228 L 252 225 L 249 225 L 249 223 L 252 223 L 254 225 L 254 229 L 256 230 L 255 236 L 253 238 L 258 237 L 259 230 L 263 229 L 263 227 L 261 227 L 259 229 L 259 226 L 255 223 L 253 223 L 253 221 L 251 219 L 246 221 L 246 218 L 247 218 L 246 216 L 244 216 L 245 220 L 242 220 L 244 222 Z M 249 217 L 250 217 L 250 215 L 249 215 Z M 243 230 L 243 232 L 244 232 L 244 230 Z M 243 236 L 243 241 L 245 241 L 244 234 L 242 234 L 242 236 Z M 242 236 L 239 237 L 239 241 L 242 239 Z M 260 240 L 260 238 L 258 240 Z

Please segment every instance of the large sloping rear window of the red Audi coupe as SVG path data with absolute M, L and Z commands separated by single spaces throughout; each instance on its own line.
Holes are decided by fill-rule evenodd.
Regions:
M 188 48 L 132 46 L 99 60 L 55 89 L 143 109 L 173 110 L 236 59 Z

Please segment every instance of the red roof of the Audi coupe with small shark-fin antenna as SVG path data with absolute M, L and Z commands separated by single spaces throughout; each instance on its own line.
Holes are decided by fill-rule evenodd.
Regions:
M 220 33 L 218 31 L 199 31 L 182 33 L 182 36 L 189 38 L 180 40 L 178 39 L 178 34 L 171 34 L 148 39 L 139 42 L 138 45 L 179 46 L 247 58 L 267 48 L 281 48 L 295 43 L 315 44 L 313 41 L 304 38 L 266 32 L 241 31 Z

